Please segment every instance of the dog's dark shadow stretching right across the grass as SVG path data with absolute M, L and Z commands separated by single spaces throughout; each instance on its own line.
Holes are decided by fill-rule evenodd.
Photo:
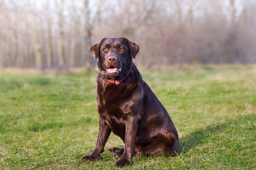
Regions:
M 232 118 L 227 118 L 223 123 L 214 123 L 205 128 L 198 128 L 197 130 L 189 133 L 188 135 L 180 138 L 180 153 L 186 153 L 192 148 L 200 144 L 214 142 L 220 133 L 231 133 L 236 128 L 242 128 L 244 131 L 252 130 L 255 128 L 252 121 L 256 119 L 256 115 L 237 115 Z M 251 124 L 248 123 L 251 121 Z M 243 127 L 241 127 L 243 124 Z M 239 132 L 235 132 L 239 135 Z

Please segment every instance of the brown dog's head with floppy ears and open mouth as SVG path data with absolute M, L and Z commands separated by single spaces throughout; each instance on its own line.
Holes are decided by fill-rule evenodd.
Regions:
M 103 38 L 101 42 L 90 47 L 98 61 L 101 74 L 106 79 L 123 79 L 131 70 L 140 47 L 125 37 Z

